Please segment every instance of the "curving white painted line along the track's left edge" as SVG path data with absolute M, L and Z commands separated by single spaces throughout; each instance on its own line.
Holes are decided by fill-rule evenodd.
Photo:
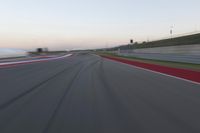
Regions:
M 17 65 L 17 64 L 25 64 L 25 63 L 34 63 L 34 62 L 39 62 L 39 61 L 57 60 L 57 59 L 62 59 L 62 58 L 65 58 L 65 57 L 69 57 L 71 55 L 72 54 L 67 54 L 67 55 L 64 55 L 64 56 L 54 57 L 54 58 L 49 58 L 49 59 L 35 59 L 35 60 L 26 60 L 26 61 L 6 62 L 6 63 L 0 63 L 0 66 Z

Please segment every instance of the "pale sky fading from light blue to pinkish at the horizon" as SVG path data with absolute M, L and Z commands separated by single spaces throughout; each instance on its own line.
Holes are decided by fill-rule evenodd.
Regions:
M 0 0 L 0 48 L 87 49 L 200 30 L 200 0 Z

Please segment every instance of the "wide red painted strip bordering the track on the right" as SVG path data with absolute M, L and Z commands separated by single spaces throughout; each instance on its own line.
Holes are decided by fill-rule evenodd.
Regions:
M 117 57 L 110 57 L 110 56 L 102 56 L 102 57 L 200 83 L 200 72 L 197 72 L 197 71 L 171 68 L 167 66 L 143 63 L 143 62 L 138 62 L 138 61 L 117 58 Z

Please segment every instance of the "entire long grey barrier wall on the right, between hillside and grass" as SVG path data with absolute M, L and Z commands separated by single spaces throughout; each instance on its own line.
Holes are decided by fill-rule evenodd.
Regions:
M 200 45 L 182 45 L 114 51 L 118 55 L 144 59 L 200 64 Z

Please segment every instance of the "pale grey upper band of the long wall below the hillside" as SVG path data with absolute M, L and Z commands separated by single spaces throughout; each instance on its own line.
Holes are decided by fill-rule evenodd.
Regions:
M 200 55 L 200 44 L 135 49 L 135 50 L 132 50 L 132 52 L 134 52 L 134 53 Z

